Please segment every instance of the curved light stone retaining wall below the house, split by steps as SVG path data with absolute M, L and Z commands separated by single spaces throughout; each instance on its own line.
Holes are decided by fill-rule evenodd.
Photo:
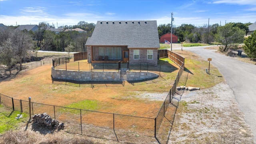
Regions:
M 127 72 L 127 81 L 156 78 L 157 74 L 150 72 Z M 52 78 L 74 81 L 120 81 L 120 72 L 84 72 L 70 70 L 56 70 L 52 67 Z

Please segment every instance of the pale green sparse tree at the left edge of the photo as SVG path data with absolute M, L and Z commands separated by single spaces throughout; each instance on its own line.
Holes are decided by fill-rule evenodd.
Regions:
M 6 65 L 11 74 L 11 68 L 18 60 L 15 54 L 16 47 L 12 44 L 11 39 L 6 40 L 2 46 L 0 46 L 0 62 Z

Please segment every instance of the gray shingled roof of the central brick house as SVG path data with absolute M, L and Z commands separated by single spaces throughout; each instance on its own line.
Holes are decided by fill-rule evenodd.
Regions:
M 156 20 L 98 21 L 86 45 L 160 48 L 157 23 Z

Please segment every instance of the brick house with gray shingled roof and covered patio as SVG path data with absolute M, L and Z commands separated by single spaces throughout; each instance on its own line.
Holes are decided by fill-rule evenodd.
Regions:
M 86 44 L 88 61 L 157 64 L 160 48 L 156 20 L 98 21 Z M 93 61 L 92 61 L 93 62 Z

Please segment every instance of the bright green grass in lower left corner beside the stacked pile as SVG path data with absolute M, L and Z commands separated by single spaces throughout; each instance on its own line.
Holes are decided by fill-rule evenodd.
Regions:
M 6 110 L 4 106 L 0 105 L 0 134 L 8 130 L 17 128 L 21 122 L 26 122 L 27 114 L 14 111 L 11 115 L 9 110 Z M 23 118 L 16 119 L 17 114 L 23 114 Z M 10 115 L 10 116 L 9 116 Z

